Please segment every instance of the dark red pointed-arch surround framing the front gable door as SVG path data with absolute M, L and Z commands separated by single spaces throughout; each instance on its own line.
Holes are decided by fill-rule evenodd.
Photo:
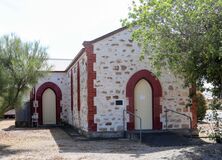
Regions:
M 160 105 L 160 97 L 162 96 L 162 87 L 159 80 L 149 71 L 141 70 L 135 73 L 128 81 L 126 86 L 126 97 L 129 99 L 129 105 L 127 111 L 134 113 L 134 88 L 137 82 L 141 79 L 147 80 L 152 88 L 153 99 L 153 129 L 162 129 L 162 123 L 160 122 L 160 114 L 162 113 L 162 106 Z M 134 117 L 130 117 L 130 121 L 127 123 L 127 130 L 133 130 L 135 128 Z

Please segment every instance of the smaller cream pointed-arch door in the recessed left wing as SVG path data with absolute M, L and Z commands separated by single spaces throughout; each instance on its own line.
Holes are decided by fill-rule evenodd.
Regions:
M 43 124 L 56 124 L 56 95 L 50 88 L 42 95 Z

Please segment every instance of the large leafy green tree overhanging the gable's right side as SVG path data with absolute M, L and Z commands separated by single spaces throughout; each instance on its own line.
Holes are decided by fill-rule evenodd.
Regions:
M 158 72 L 168 67 L 186 85 L 208 82 L 221 95 L 221 0 L 135 0 L 123 25 Z

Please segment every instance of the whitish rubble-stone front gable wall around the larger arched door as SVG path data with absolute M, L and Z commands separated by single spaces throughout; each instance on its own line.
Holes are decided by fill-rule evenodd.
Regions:
M 96 97 L 94 105 L 97 114 L 94 117 L 97 131 L 121 131 L 123 129 L 123 109 L 128 105 L 126 85 L 130 77 L 140 70 L 154 73 L 149 58 L 140 61 L 140 48 L 130 39 L 130 32 L 123 30 L 94 44 L 96 54 Z M 189 89 L 183 88 L 181 80 L 165 70 L 159 77 L 163 89 L 161 99 L 162 111 L 164 107 L 191 115 L 185 107 Z M 116 100 L 123 100 L 122 106 L 116 106 Z M 164 112 L 160 115 L 165 128 Z M 186 128 L 189 121 L 180 115 L 168 113 L 168 128 Z

